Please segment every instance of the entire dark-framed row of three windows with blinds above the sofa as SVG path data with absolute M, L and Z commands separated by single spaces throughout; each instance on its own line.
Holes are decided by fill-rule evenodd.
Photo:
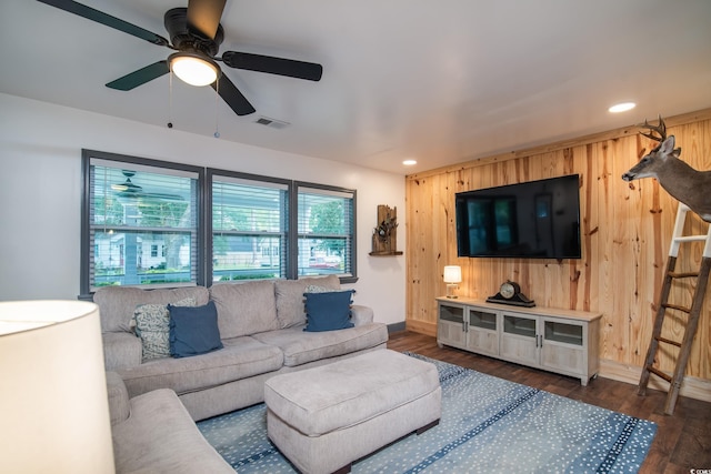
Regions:
M 356 282 L 356 191 L 82 151 L 81 293 L 336 274 Z

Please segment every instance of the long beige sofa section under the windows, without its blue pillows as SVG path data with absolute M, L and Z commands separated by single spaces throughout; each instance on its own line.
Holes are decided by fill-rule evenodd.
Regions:
M 337 276 L 217 283 L 211 288 L 99 289 L 107 371 L 123 380 L 129 397 L 159 390 L 176 392 L 194 421 L 228 413 L 264 397 L 269 377 L 384 349 L 388 329 L 373 322 L 370 307 L 353 304 L 348 325 L 304 331 L 304 293 L 341 290 Z M 217 309 L 221 349 L 200 355 L 154 356 L 137 317 L 143 309 L 168 304 Z M 138 331 L 137 331 L 138 330 Z

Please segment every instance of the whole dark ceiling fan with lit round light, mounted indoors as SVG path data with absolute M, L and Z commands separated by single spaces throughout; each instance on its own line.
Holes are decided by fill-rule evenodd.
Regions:
M 170 36 L 170 41 L 136 24 L 73 0 L 38 1 L 176 51 L 168 59 L 154 62 L 107 83 L 106 85 L 111 89 L 129 91 L 172 70 L 176 75 L 192 85 L 210 84 L 234 113 L 248 115 L 254 112 L 254 108 L 232 81 L 222 73 L 217 63 L 218 61 L 230 68 L 268 72 L 309 81 L 319 81 L 323 72 L 321 64 L 271 56 L 224 51 L 221 57 L 218 57 L 220 44 L 224 39 L 220 19 L 227 0 L 189 0 L 188 8 L 168 10 L 163 22 Z M 190 75 L 190 71 L 197 74 L 197 79 L 194 79 L 196 75 Z

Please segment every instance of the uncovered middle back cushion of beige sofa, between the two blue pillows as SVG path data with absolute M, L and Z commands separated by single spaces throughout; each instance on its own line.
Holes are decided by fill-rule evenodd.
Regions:
M 217 283 L 210 297 L 218 309 L 222 339 L 239 337 L 279 329 L 274 284 L 270 280 Z

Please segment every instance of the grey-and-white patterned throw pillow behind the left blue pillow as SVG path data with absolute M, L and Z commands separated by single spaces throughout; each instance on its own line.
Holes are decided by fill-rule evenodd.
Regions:
M 194 306 L 194 297 L 172 303 L 174 306 Z M 141 304 L 133 312 L 136 334 L 143 345 L 143 362 L 170 357 L 170 313 L 167 304 Z

